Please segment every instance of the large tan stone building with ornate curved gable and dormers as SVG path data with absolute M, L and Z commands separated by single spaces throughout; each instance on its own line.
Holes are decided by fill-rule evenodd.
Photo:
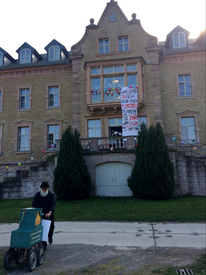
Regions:
M 158 42 L 144 31 L 136 14 L 128 20 L 117 2 L 110 1 L 97 24 L 90 19 L 71 51 L 55 39 L 41 55 L 24 43 L 14 60 L 0 47 L 2 167 L 43 149 L 54 151 L 55 140 L 61 139 L 68 125 L 79 129 L 88 152 L 92 144 L 93 150 L 109 151 L 112 130 L 121 132 L 116 88 L 131 85 L 138 86 L 139 124 L 160 122 L 165 135 L 176 136 L 178 143 L 185 140 L 183 147 L 192 144 L 205 149 L 205 31 L 197 39 L 188 37 L 189 32 L 177 26 L 166 41 Z M 121 157 L 115 152 L 109 157 L 98 155 L 92 168 L 95 154 L 91 160 L 85 157 L 93 173 L 93 194 L 126 192 L 126 187 L 119 191 L 116 174 L 105 178 L 105 182 L 111 180 L 111 188 L 105 187 L 108 193 L 99 182 L 102 171 L 113 164 L 114 169 L 127 171 L 125 175 L 131 171 L 134 160 L 128 149 L 134 150 L 135 140 L 132 144 L 127 140 L 125 151 L 124 146 L 117 148 L 117 142 L 114 151 L 122 149 Z M 108 167 L 101 168 L 99 164 L 104 163 Z M 125 181 L 122 175 L 120 185 L 125 186 Z

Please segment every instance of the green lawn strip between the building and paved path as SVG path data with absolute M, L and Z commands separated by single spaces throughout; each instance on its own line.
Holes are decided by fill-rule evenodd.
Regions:
M 19 209 L 31 207 L 31 202 L 32 199 L 0 200 L 0 222 L 17 222 Z M 55 221 L 205 222 L 205 202 L 203 196 L 170 200 L 139 200 L 134 197 L 57 200 Z

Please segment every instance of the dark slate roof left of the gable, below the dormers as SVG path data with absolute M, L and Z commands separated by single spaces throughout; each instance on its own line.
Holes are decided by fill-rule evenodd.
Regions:
M 71 55 L 72 52 L 68 51 L 68 55 Z M 41 57 L 43 60 L 36 61 L 35 63 L 32 64 L 18 64 L 17 62 L 11 63 L 7 66 L 1 67 L 0 70 L 5 70 L 5 69 L 12 69 L 12 68 L 27 68 L 27 67 L 38 67 L 38 66 L 48 66 L 48 65 L 57 65 L 57 64 L 68 64 L 70 63 L 69 57 L 65 58 L 64 60 L 58 60 L 58 61 L 47 61 L 46 60 L 46 53 L 41 54 Z M 18 59 L 16 59 L 18 61 Z

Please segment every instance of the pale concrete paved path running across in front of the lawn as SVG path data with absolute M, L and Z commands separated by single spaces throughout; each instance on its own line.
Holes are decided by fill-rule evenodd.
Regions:
M 1 246 L 9 246 L 16 223 L 0 224 Z M 55 222 L 54 244 L 205 248 L 205 223 Z

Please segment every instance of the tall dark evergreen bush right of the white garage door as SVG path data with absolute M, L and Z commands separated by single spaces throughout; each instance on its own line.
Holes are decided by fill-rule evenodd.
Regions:
M 134 168 L 127 179 L 129 188 L 141 199 L 170 198 L 175 185 L 174 167 L 160 123 L 149 129 L 142 123 L 137 143 Z

